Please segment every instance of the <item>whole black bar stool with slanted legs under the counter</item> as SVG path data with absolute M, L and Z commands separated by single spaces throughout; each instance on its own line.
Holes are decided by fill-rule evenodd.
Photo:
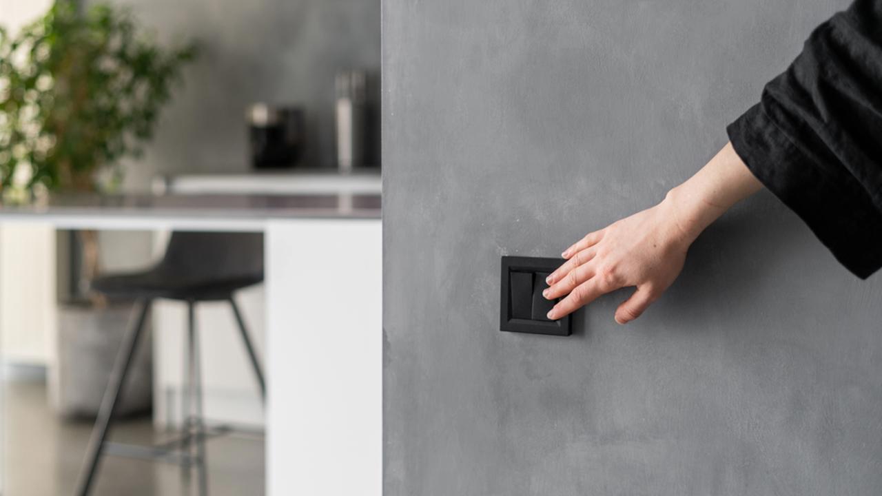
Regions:
M 202 417 L 195 307 L 199 302 L 229 303 L 242 334 L 245 351 L 257 376 L 261 398 L 265 399 L 264 374 L 261 372 L 258 357 L 245 328 L 242 313 L 239 312 L 233 299 L 236 290 L 263 281 L 263 246 L 263 234 L 260 233 L 174 232 L 168 240 L 165 255 L 156 266 L 142 272 L 110 274 L 93 281 L 93 290 L 107 297 L 136 298 L 137 303 L 133 326 L 123 336 L 116 363 L 101 400 L 101 408 L 86 449 L 86 462 L 80 474 L 76 494 L 86 496 L 93 485 L 101 456 L 108 444 L 108 432 L 113 423 L 116 406 L 122 396 L 125 378 L 138 347 L 138 338 L 142 334 L 153 300 L 158 298 L 187 303 L 187 340 L 184 359 L 187 377 L 182 392 L 183 437 L 176 442 L 147 449 L 153 454 L 152 457 L 161 457 L 179 451 L 179 460 L 188 468 L 198 463 L 199 489 L 202 493 L 207 491 L 206 428 Z

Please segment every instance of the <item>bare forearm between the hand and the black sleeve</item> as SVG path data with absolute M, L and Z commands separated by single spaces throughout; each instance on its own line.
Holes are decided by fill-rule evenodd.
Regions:
M 731 143 L 694 176 L 668 192 L 662 203 L 690 243 L 737 202 L 762 188 Z

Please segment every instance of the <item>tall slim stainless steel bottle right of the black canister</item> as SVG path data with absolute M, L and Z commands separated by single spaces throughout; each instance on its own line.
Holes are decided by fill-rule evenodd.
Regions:
M 364 71 L 340 71 L 334 80 L 337 100 L 337 167 L 340 172 L 363 167 L 367 142 L 366 94 Z

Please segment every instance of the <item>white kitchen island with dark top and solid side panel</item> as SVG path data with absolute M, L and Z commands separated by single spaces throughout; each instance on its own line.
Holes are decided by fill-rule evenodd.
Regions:
M 2 206 L 0 223 L 265 233 L 266 493 L 379 495 L 380 203 L 351 193 L 61 195 Z

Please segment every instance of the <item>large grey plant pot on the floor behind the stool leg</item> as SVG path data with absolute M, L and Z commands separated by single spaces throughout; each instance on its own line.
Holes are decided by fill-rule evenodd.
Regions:
M 95 417 L 108 385 L 123 334 L 131 327 L 132 304 L 61 305 L 56 364 L 49 371 L 49 403 L 64 417 Z M 149 319 L 138 341 L 116 413 L 153 407 L 153 345 Z

